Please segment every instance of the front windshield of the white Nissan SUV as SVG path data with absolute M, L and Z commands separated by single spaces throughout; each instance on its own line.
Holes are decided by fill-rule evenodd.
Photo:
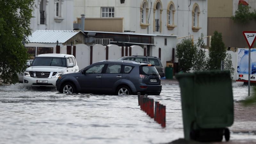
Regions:
M 59 57 L 36 57 L 31 66 L 66 67 L 66 59 Z

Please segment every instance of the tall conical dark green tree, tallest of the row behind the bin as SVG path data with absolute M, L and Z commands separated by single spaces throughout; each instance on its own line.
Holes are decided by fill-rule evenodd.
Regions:
M 222 34 L 217 31 L 211 37 L 211 45 L 209 48 L 209 58 L 207 59 L 207 69 L 220 69 L 221 61 L 225 60 L 226 47 L 222 41 Z

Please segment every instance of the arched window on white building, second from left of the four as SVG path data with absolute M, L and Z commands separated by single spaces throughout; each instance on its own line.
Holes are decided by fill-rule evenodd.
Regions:
M 162 2 L 160 0 L 157 0 L 154 4 L 154 29 L 153 31 L 162 31 L 162 12 L 163 12 L 163 6 Z

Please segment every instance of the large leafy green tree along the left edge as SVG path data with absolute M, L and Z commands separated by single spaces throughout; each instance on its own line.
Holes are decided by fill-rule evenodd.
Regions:
M 22 44 L 31 35 L 30 19 L 34 0 L 0 0 L 0 79 L 3 83 L 18 82 L 29 58 Z

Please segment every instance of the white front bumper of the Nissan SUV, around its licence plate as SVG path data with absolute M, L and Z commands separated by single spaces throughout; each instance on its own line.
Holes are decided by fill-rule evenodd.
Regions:
M 30 76 L 23 76 L 23 84 L 27 87 L 56 87 L 56 80 L 58 77 L 54 78 L 37 78 L 37 77 L 30 77 Z M 47 83 L 37 83 L 37 80 L 46 80 Z

